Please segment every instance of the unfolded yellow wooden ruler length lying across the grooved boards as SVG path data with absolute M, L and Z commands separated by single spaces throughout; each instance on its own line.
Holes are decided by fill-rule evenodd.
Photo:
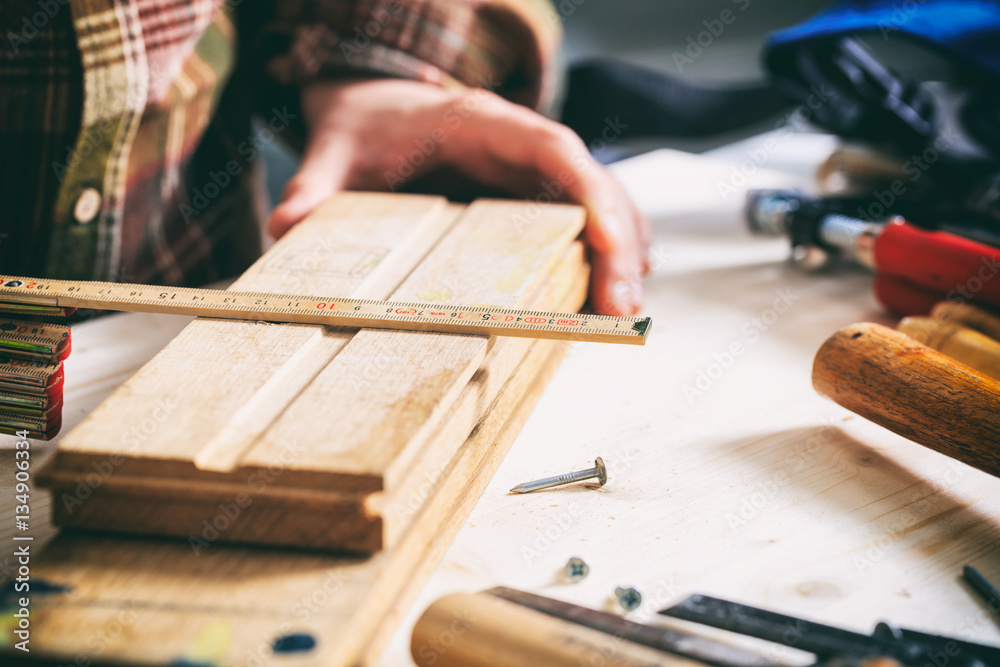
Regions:
M 74 308 L 627 345 L 644 345 L 652 327 L 648 317 L 0 275 L 0 311 L 60 315 Z

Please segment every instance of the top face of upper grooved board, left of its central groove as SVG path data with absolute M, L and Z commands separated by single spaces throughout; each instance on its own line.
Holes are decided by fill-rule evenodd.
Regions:
M 438 241 L 455 213 L 438 197 L 339 194 L 232 288 L 385 298 Z M 199 451 L 206 445 L 226 449 L 212 443 L 231 443 L 233 431 L 243 430 L 245 406 L 262 414 L 278 411 L 353 333 L 314 325 L 195 320 L 66 434 L 56 469 L 90 473 L 95 462 L 123 455 L 116 473 L 192 474 Z

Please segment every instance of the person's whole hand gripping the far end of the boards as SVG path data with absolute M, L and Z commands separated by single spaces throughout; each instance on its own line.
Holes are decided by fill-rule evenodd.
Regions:
M 555 182 L 560 200 L 587 208 L 592 305 L 606 315 L 638 311 L 649 224 L 569 128 L 483 89 L 401 79 L 315 83 L 303 90 L 302 108 L 309 137 L 271 214 L 275 237 L 339 190 L 395 190 L 436 170 L 530 199 Z M 409 156 L 420 147 L 415 164 Z

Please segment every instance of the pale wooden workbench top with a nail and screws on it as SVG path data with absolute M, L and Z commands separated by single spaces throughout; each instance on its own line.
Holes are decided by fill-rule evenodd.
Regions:
M 778 139 L 752 184 L 803 184 L 802 165 L 830 145 Z M 735 169 L 670 152 L 615 167 L 656 231 L 649 344 L 570 352 L 380 665 L 408 663 L 412 623 L 432 601 L 495 585 L 611 608 L 614 588 L 634 584 L 646 600 L 638 619 L 697 591 L 857 630 L 886 619 L 1000 643 L 1000 619 L 959 581 L 967 563 L 1000 581 L 1000 480 L 815 394 L 812 358 L 827 336 L 891 322 L 864 272 L 804 274 L 784 262 L 784 241 L 744 232 L 742 197 L 718 185 L 740 184 Z M 187 321 L 128 314 L 75 327 L 64 432 Z M 603 488 L 506 493 L 596 456 L 609 466 Z M 11 543 L 10 502 L 0 499 L 0 544 Z M 36 491 L 39 541 L 51 534 L 48 502 Z M 561 582 L 570 556 L 590 564 L 585 581 Z

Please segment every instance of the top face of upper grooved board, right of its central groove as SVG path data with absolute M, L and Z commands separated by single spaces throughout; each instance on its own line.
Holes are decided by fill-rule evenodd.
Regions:
M 529 206 L 471 204 L 391 299 L 523 307 L 584 223 L 582 209 L 561 205 L 526 223 Z M 309 442 L 289 463 L 289 480 L 297 470 L 323 470 L 343 491 L 393 486 L 481 365 L 488 341 L 360 331 L 247 453 L 244 469 L 287 460 L 290 445 Z

